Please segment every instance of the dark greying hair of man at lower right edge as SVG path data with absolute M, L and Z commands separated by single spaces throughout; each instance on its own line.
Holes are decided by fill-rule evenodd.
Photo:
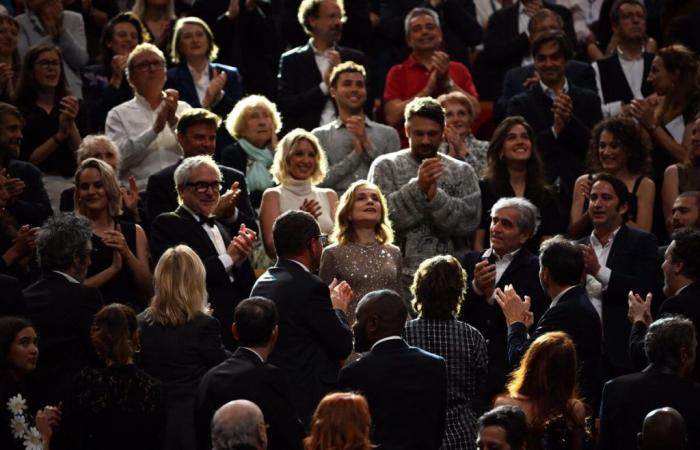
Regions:
M 681 349 L 691 350 L 695 327 L 690 319 L 668 316 L 654 321 L 644 337 L 644 352 L 650 364 L 660 364 L 678 370 Z

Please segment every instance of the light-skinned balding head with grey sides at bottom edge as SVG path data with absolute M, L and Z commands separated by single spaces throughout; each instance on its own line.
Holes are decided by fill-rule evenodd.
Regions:
M 234 400 L 219 408 L 211 421 L 213 450 L 256 449 L 260 429 L 265 427 L 262 411 L 248 400 Z

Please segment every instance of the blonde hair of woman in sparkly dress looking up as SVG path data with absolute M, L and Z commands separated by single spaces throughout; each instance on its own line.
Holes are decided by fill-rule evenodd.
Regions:
M 352 221 L 350 220 L 350 216 L 352 215 L 352 209 L 355 205 L 355 201 L 357 200 L 355 193 L 361 188 L 370 188 L 377 193 L 379 197 L 379 204 L 382 207 L 382 214 L 379 222 L 374 226 L 374 235 L 382 244 L 391 244 L 394 242 L 394 230 L 391 227 L 391 220 L 389 220 L 386 198 L 379 189 L 379 186 L 374 183 L 370 183 L 367 180 L 355 181 L 340 197 L 338 208 L 335 213 L 335 226 L 333 227 L 331 240 L 333 242 L 337 242 L 338 244 L 348 244 L 355 241 L 355 229 Z

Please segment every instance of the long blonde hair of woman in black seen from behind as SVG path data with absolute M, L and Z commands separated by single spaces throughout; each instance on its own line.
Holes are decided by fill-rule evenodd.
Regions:
M 153 274 L 155 294 L 146 312 L 149 322 L 182 325 L 205 313 L 206 271 L 199 256 L 186 245 L 169 248 Z

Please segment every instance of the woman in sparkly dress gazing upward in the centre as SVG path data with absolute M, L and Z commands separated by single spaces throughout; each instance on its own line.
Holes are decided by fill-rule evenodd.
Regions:
M 354 292 L 348 320 L 355 321 L 355 308 L 368 292 L 393 289 L 401 293 L 401 251 L 392 245 L 394 233 L 386 199 L 379 188 L 365 180 L 350 185 L 340 198 L 334 242 L 323 251 L 320 275 L 347 281 Z

